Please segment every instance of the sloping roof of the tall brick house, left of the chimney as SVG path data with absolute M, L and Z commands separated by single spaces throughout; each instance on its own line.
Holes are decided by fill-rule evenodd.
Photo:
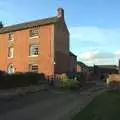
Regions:
M 3 28 L 0 28 L 0 34 L 17 31 L 17 30 L 23 30 L 23 29 L 27 29 L 27 28 L 31 28 L 31 27 L 36 27 L 36 26 L 52 24 L 52 23 L 56 23 L 58 20 L 59 20 L 59 18 L 57 16 L 55 16 L 55 17 L 49 17 L 49 18 L 40 19 L 40 20 L 24 22 L 24 23 L 20 23 L 20 24 L 16 24 L 16 25 L 6 26 Z

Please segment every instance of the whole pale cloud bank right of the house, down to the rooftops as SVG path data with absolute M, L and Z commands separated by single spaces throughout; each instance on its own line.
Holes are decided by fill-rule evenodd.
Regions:
M 87 64 L 117 64 L 120 28 L 70 27 L 72 51 Z M 118 49 L 118 50 L 117 50 Z

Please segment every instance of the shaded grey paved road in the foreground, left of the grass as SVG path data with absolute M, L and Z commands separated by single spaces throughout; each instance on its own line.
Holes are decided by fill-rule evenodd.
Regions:
M 91 91 L 62 94 L 44 91 L 15 101 L 1 101 L 0 120 L 67 120 L 93 98 L 95 91 Z

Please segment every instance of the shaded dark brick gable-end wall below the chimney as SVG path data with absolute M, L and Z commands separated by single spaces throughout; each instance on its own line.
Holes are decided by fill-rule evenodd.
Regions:
M 61 19 L 55 24 L 55 73 L 69 71 L 69 32 Z

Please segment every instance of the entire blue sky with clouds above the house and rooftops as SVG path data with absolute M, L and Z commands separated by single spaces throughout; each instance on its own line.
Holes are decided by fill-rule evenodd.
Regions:
M 115 64 L 120 58 L 120 0 L 0 0 L 5 25 L 56 16 L 62 7 L 70 50 L 87 65 Z

